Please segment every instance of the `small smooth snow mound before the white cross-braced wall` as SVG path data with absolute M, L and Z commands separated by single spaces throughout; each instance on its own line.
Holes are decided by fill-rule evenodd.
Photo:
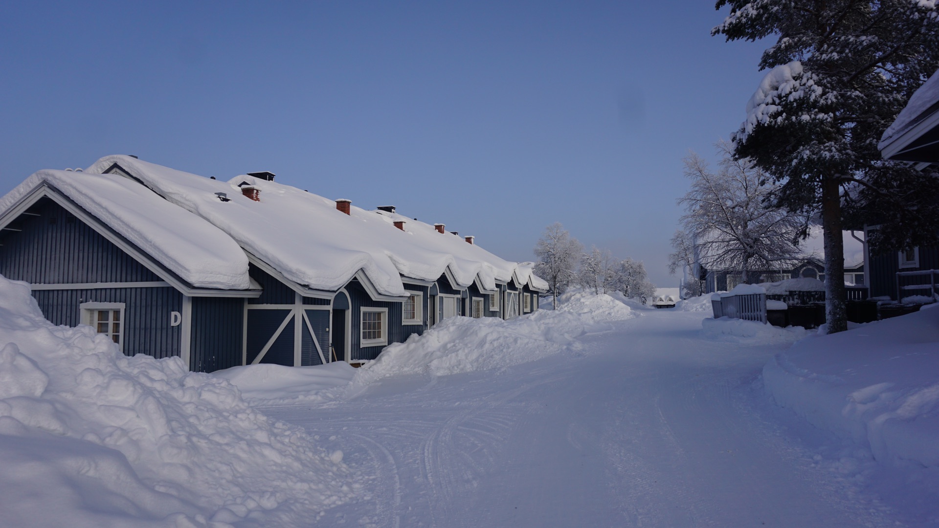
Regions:
M 212 375 L 231 381 L 253 405 L 285 405 L 330 399 L 325 392 L 346 386 L 355 372 L 346 362 L 335 362 L 318 366 L 233 366 Z

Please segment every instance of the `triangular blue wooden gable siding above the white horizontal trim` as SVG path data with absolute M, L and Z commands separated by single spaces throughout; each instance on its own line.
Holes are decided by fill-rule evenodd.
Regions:
M 150 282 L 156 273 L 49 198 L 0 233 L 0 274 L 32 284 Z M 54 224 L 50 224 L 53 222 Z

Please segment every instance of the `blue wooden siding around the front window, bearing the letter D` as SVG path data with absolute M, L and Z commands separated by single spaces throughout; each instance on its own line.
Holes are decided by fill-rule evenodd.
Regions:
M 170 321 L 172 312 L 182 312 L 182 294 L 173 287 L 39 289 L 33 296 L 45 318 L 67 326 L 81 324 L 81 303 L 125 303 L 125 355 L 179 355 L 182 325 L 171 326 Z

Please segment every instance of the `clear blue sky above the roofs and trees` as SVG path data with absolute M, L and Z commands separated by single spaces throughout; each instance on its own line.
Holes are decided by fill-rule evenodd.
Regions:
M 764 44 L 712 0 L 9 2 L 0 194 L 107 154 L 277 180 L 533 259 L 561 222 L 660 287 L 689 149 L 744 118 Z

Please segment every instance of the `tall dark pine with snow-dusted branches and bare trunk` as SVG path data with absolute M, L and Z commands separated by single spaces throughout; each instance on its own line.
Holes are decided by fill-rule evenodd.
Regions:
M 730 14 L 712 30 L 728 40 L 776 36 L 762 54 L 770 69 L 747 103 L 747 120 L 733 136 L 735 155 L 750 158 L 781 183 L 776 203 L 793 211 L 821 210 L 825 272 L 844 270 L 842 193 L 891 194 L 879 183 L 922 176 L 881 159 L 878 140 L 910 95 L 939 68 L 939 12 L 934 0 L 718 0 Z M 905 212 L 888 220 L 918 227 L 892 229 L 886 245 L 935 236 L 939 219 L 923 214 L 923 193 L 893 204 Z M 849 196 L 850 197 L 850 196 Z M 863 207 L 863 203 L 859 204 Z M 887 208 L 888 209 L 888 208 Z M 847 329 L 844 284 L 826 284 L 828 331 Z

